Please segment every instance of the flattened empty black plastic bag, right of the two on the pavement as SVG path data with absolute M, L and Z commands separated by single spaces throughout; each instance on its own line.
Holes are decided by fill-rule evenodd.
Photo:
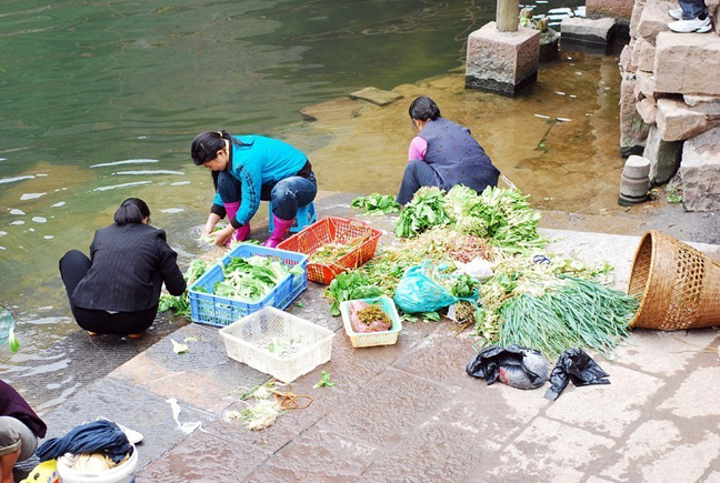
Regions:
M 609 376 L 610 374 L 604 372 L 582 349 L 568 349 L 558 358 L 550 374 L 552 386 L 548 389 L 544 398 L 550 401 L 557 400 L 568 385 L 568 380 L 580 388 L 591 384 L 610 384 L 610 381 L 606 379 Z

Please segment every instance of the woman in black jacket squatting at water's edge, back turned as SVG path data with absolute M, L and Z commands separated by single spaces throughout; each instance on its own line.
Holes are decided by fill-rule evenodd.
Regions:
M 114 223 L 96 232 L 89 259 L 71 250 L 60 260 L 72 314 L 90 334 L 139 338 L 158 313 L 162 283 L 172 295 L 184 292 L 177 253 L 149 222 L 146 202 L 128 198 Z

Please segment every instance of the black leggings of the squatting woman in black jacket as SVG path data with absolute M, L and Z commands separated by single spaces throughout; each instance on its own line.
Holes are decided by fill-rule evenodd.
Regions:
M 72 303 L 72 292 L 78 283 L 88 274 L 91 266 L 90 259 L 78 250 L 70 250 L 60 259 L 60 276 L 68 292 L 72 315 L 86 331 L 99 334 L 128 335 L 139 334 L 152 325 L 158 314 L 158 305 L 137 312 L 110 313 L 104 310 L 83 309 Z

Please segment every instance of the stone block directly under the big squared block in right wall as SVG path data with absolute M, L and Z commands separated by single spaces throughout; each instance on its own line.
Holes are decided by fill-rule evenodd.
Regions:
M 663 141 L 684 141 L 720 125 L 720 103 L 692 108 L 678 100 L 660 99 L 657 120 Z

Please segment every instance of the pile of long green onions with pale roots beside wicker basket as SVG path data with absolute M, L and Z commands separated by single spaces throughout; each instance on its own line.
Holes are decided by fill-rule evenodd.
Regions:
M 611 269 L 573 260 L 496 260 L 493 276 L 480 285 L 482 316 L 476 320 L 476 331 L 490 343 L 519 344 L 548 358 L 569 348 L 611 358 L 639 304 L 604 284 Z

